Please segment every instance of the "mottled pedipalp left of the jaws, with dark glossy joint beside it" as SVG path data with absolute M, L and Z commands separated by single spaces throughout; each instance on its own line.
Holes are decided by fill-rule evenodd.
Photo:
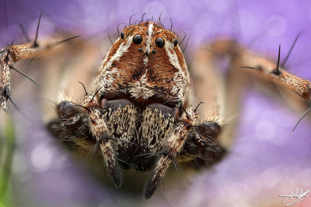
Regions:
M 69 99 L 60 101 L 56 105 L 60 119 L 53 128 L 56 128 L 57 137 L 67 137 L 65 141 L 73 142 L 86 150 L 91 151 L 95 145 L 99 145 L 112 182 L 116 187 L 121 187 L 122 175 L 114 144 L 111 142 L 113 138 L 107 135 L 105 117 L 102 116 L 103 112 L 95 95 L 87 93 L 82 98 L 81 105 L 76 105 Z

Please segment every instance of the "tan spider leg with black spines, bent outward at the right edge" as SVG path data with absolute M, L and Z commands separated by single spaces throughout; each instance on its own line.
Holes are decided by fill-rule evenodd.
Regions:
M 296 40 L 297 38 L 295 39 L 295 41 Z M 292 45 L 292 47 L 294 46 L 294 44 Z M 261 57 L 254 52 L 248 50 L 247 48 L 241 46 L 239 43 L 230 40 L 216 41 L 210 44 L 208 46 L 208 49 L 220 56 L 230 56 L 230 65 L 231 68 L 236 71 L 235 73 L 251 74 L 253 76 L 257 76 L 259 79 L 271 82 L 275 86 L 288 89 L 289 91 L 295 93 L 301 99 L 306 101 L 306 104 L 309 108 L 306 112 L 310 111 L 310 81 L 290 74 L 282 68 L 287 61 L 292 48 L 290 49 L 288 55 L 285 57 L 285 61 L 283 62 L 283 64 L 279 64 L 281 45 L 279 45 L 278 60 L 275 62 L 270 61 L 267 58 Z

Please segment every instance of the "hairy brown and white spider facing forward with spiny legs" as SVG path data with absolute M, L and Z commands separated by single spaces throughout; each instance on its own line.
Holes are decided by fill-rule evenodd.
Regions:
M 39 23 L 40 19 L 41 15 Z M 78 37 L 38 42 L 39 23 L 34 42 L 11 44 L 0 51 L 0 106 L 4 111 L 8 100 L 17 108 L 12 99 L 11 70 L 36 83 L 13 64 Z M 58 119 L 49 127 L 57 129 L 54 134 L 65 142 L 90 153 L 100 151 L 116 187 L 122 185 L 123 169 L 149 170 L 145 199 L 156 192 L 170 164 L 214 164 L 226 153 L 225 144 L 217 141 L 226 122 L 224 97 L 216 87 L 208 87 L 209 82 L 221 81 L 211 70 L 217 57 L 230 56 L 233 76 L 250 73 L 310 100 L 310 82 L 282 69 L 281 46 L 275 64 L 235 41 L 219 39 L 208 44 L 207 51 L 199 52 L 188 70 L 177 35 L 165 28 L 160 18 L 130 23 L 112 44 L 95 75 L 95 92 L 79 82 L 85 94 L 80 101 L 68 95 L 57 100 Z M 206 71 L 208 76 L 204 76 Z M 205 88 L 203 94 L 194 90 L 198 85 Z M 204 96 L 206 93 L 209 95 Z

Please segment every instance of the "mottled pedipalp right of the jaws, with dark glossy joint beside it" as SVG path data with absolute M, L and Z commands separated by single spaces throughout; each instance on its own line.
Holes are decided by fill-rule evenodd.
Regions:
M 221 132 L 219 111 L 212 110 L 202 123 L 198 124 L 197 107 L 189 106 L 165 138 L 166 147 L 160 153 L 160 159 L 144 189 L 146 199 L 154 194 L 172 161 L 188 162 L 205 155 L 204 157 L 212 159 L 210 162 L 215 162 L 224 155 L 224 148 L 214 142 Z

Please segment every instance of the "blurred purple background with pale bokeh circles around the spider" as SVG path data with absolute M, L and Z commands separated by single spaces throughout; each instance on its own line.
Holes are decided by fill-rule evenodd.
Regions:
M 144 12 L 156 18 L 163 12 L 161 21 L 166 27 L 170 18 L 180 36 L 182 31 L 191 33 L 185 52 L 188 59 L 202 43 L 226 34 L 261 54 L 275 54 L 274 59 L 281 44 L 282 61 L 301 32 L 286 66 L 291 73 L 311 79 L 311 2 L 307 0 L 27 0 L 1 5 L 0 47 L 13 39 L 25 41 L 18 23 L 33 37 L 41 10 L 40 37 L 55 29 L 83 37 L 103 30 L 112 34 L 135 13 L 133 22 Z M 282 204 L 284 198 L 279 195 L 311 188 L 310 119 L 290 134 L 301 114 L 256 89 L 249 89 L 245 97 L 230 154 L 212 170 L 202 169 L 187 180 L 169 183 L 164 191 L 160 187 L 148 201 L 142 194 L 103 186 L 62 146 L 52 144 L 53 137 L 40 119 L 42 112 L 27 100 L 24 109 L 37 121 L 27 123 L 20 116 L 15 120 L 18 149 L 11 182 L 16 206 L 285 206 L 289 201 Z M 295 206 L 308 204 L 310 198 Z

